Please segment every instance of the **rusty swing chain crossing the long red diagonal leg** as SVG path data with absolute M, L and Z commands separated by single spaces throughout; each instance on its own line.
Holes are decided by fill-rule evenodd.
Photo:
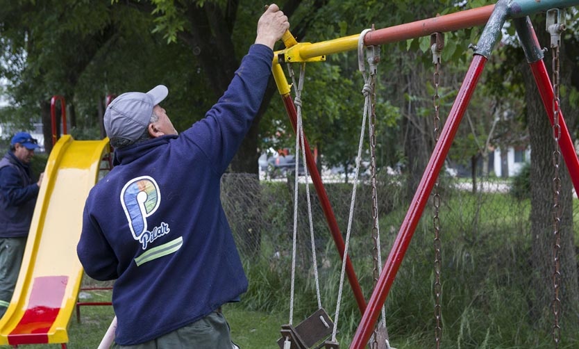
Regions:
M 439 74 L 439 67 L 441 62 L 441 53 L 442 49 L 444 48 L 444 34 L 443 33 L 433 33 L 430 35 L 430 49 L 433 53 L 433 63 L 435 65 L 435 72 L 433 74 L 433 83 L 435 87 L 435 92 L 433 95 L 433 103 L 434 103 L 434 138 L 435 143 L 438 142 L 438 138 L 440 136 L 440 115 L 439 115 L 439 108 L 440 108 L 440 95 L 438 93 L 439 83 L 440 83 L 440 74 Z M 435 342 L 436 348 L 440 348 L 440 340 L 442 339 L 442 307 L 440 305 L 441 294 L 442 294 L 442 284 L 440 282 L 440 270 L 442 265 L 442 257 L 441 257 L 441 243 L 440 243 L 440 218 L 439 218 L 439 208 L 440 208 L 440 195 L 439 195 L 439 181 L 438 178 L 435 182 L 434 186 L 434 195 L 433 195 L 433 204 L 434 204 L 434 218 L 433 218 L 433 225 L 435 229 L 435 238 L 434 238 L 434 247 L 435 247 L 435 261 L 434 261 L 434 268 L 435 268 L 435 282 L 434 282 L 434 293 L 435 293 L 435 320 L 436 320 L 436 327 L 435 327 Z

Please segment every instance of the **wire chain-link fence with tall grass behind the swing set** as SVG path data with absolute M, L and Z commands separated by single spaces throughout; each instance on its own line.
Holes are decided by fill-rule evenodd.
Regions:
M 300 177 L 300 180 L 303 182 L 303 177 Z M 380 265 L 385 262 L 409 210 L 412 197 L 405 196 L 408 195 L 405 183 L 401 176 L 383 175 L 378 178 Z M 352 184 L 329 183 L 324 187 L 345 240 L 352 206 Z M 242 259 L 249 263 L 249 266 L 257 265 L 258 268 L 263 268 L 262 262 L 266 261 L 268 273 L 278 275 L 278 279 L 289 279 L 294 231 L 294 178 L 259 181 L 256 175 L 229 174 L 224 176 L 221 193 L 221 200 Z M 324 212 L 312 184 L 310 195 L 317 252 L 316 268 L 321 272 L 323 287 L 330 287 L 330 284 L 337 284 L 337 276 L 331 274 L 339 275 L 342 262 L 337 256 Z M 531 232 L 528 188 L 521 188 L 521 184 L 512 179 L 480 178 L 473 188 L 470 179 L 445 176 L 440 179 L 439 195 L 442 255 L 439 269 L 442 298 L 438 302 L 442 303 L 442 318 L 446 323 L 442 329 L 444 338 L 464 341 L 461 336 L 468 335 L 472 337 L 469 338 L 472 343 L 480 344 L 486 340 L 484 334 L 488 335 L 488 331 L 492 329 L 490 337 L 498 337 L 495 343 L 528 343 L 531 339 L 511 340 L 512 332 L 505 328 L 524 332 L 528 330 L 526 326 L 529 326 L 532 330 L 526 333 L 538 336 L 541 338 L 539 341 L 546 338 L 548 347 L 551 329 L 549 309 L 544 307 L 544 303 L 544 308 L 534 308 L 539 302 L 536 302 L 537 289 L 533 282 L 541 280 L 541 277 L 537 278 L 539 271 L 535 269 L 537 261 L 533 261 L 536 247 L 533 244 L 536 244 L 536 235 L 539 233 Z M 303 183 L 299 184 L 297 201 L 296 275 L 311 278 L 308 203 Z M 573 202 L 576 203 L 577 200 Z M 374 288 L 371 205 L 371 186 L 367 181 L 362 181 L 357 187 L 356 200 L 352 206 L 349 255 L 367 299 Z M 422 329 L 435 327 L 433 217 L 434 204 L 432 197 L 428 197 L 426 209 L 388 294 L 387 313 L 393 314 L 388 320 L 392 327 L 389 327 L 389 331 L 392 330 L 390 333 L 414 333 L 417 327 L 413 326 Z M 575 218 L 566 217 L 564 220 Z M 545 223 L 551 225 L 551 221 Z M 547 268 L 552 269 L 553 266 Z M 252 279 L 254 275 L 249 277 L 250 284 L 262 282 L 261 279 Z M 548 290 L 552 289 L 552 280 L 546 275 L 542 283 L 548 293 Z M 289 298 L 289 287 L 286 290 L 283 287 L 287 284 L 280 284 L 283 285 L 282 289 L 277 292 L 287 291 Z M 345 284 L 344 288 L 348 289 L 348 282 Z M 311 294 L 312 289 L 306 287 L 298 292 Z M 337 289 L 332 286 L 322 293 L 336 298 Z M 349 293 L 345 297 L 352 298 L 352 295 Z M 335 300 L 330 304 L 335 305 Z M 564 307 L 572 308 L 569 298 Z M 355 331 L 360 320 L 356 317 L 358 311 L 355 303 L 347 311 L 352 323 L 349 328 L 342 328 L 345 333 Z M 521 320 L 521 316 L 526 320 Z M 546 334 L 535 334 L 537 329 L 544 330 Z M 475 338 L 480 335 L 483 337 Z M 568 339 L 569 336 L 579 340 L 575 334 L 567 334 Z M 532 341 L 539 343 L 536 338 Z

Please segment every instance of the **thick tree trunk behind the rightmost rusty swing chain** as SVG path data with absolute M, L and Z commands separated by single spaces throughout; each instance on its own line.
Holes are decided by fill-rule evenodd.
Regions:
M 544 31 L 537 31 L 540 42 L 548 42 L 548 35 Z M 563 51 L 562 55 L 563 56 Z M 552 54 L 548 52 L 545 57 L 545 64 L 551 67 Z M 571 67 L 571 65 L 561 63 L 561 67 Z M 530 263 L 532 265 L 532 287 L 533 298 L 531 302 L 531 314 L 535 316 L 537 323 L 546 324 L 544 330 L 551 332 L 554 323 L 552 311 L 553 303 L 553 246 L 554 246 L 554 224 L 553 224 L 553 190 L 554 165 L 553 151 L 555 140 L 553 140 L 553 129 L 545 107 L 539 98 L 539 92 L 532 74 L 528 67 L 523 67 L 523 79 L 526 89 L 526 105 L 528 113 L 529 135 L 531 145 L 530 162 L 530 191 L 531 191 L 531 238 L 532 251 Z M 569 85 L 569 76 L 562 71 L 560 83 L 562 86 Z M 551 77 L 552 79 L 552 77 Z M 561 111 L 569 110 L 569 100 L 562 96 Z M 572 129 L 572 127 L 571 127 Z M 562 302 L 562 315 L 559 316 L 562 328 L 566 327 L 563 316 L 569 320 L 569 325 L 577 325 L 577 309 L 579 303 L 579 287 L 577 277 L 577 261 L 575 244 L 573 241 L 573 201 L 571 195 L 571 179 L 569 172 L 564 166 L 564 161 L 560 161 L 560 205 L 562 207 L 562 217 L 560 224 L 560 270 L 561 288 L 560 299 Z M 564 333 L 564 330 L 562 330 Z

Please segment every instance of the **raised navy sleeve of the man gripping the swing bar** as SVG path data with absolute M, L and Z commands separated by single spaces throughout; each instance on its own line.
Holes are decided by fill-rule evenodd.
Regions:
M 224 95 L 203 120 L 181 135 L 199 147 L 220 174 L 235 156 L 258 113 L 273 59 L 274 52 L 269 47 L 253 44 Z

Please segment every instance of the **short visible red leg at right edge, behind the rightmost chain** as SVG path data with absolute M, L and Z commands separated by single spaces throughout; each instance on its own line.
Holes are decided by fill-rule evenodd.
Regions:
M 532 75 L 535 76 L 535 82 L 537 83 L 537 88 L 539 88 L 539 94 L 543 99 L 549 121 L 551 125 L 553 125 L 553 84 L 551 83 L 551 79 L 549 79 L 545 63 L 543 60 L 538 60 L 537 62 L 529 63 L 529 66 Z M 571 175 L 575 192 L 579 193 L 579 160 L 577 159 L 577 153 L 575 152 L 575 147 L 573 147 L 573 140 L 571 140 L 571 136 L 569 135 L 569 129 L 565 123 L 563 112 L 560 108 L 557 109 L 559 110 L 559 124 L 561 127 L 559 137 L 561 154 L 569 170 L 569 175 Z

